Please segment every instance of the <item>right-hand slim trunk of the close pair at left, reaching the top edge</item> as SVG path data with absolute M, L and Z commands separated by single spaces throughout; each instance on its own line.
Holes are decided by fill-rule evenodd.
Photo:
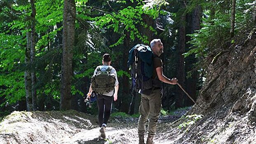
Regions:
M 35 1 L 31 0 L 31 9 L 32 9 L 32 13 L 31 13 L 31 64 L 33 65 L 32 69 L 31 69 L 31 81 L 32 81 L 32 101 L 33 101 L 33 111 L 36 111 L 38 109 L 37 106 L 37 98 L 36 98 L 36 88 L 35 88 L 35 84 L 36 84 L 36 77 L 35 77 L 35 67 L 34 67 L 34 60 L 35 60 Z

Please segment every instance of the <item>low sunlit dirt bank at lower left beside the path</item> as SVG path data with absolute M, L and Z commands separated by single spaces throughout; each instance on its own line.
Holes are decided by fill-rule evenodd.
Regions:
M 92 123 L 77 111 L 14 111 L 0 123 L 0 144 L 61 144 Z

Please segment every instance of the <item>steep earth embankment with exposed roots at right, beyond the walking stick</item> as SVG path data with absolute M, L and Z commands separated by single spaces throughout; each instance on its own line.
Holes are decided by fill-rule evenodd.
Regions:
M 215 57 L 215 61 L 213 60 Z M 187 115 L 202 114 L 181 130 L 181 118 L 169 124 L 169 144 L 256 144 L 256 36 L 216 49 L 207 60 L 207 79 Z M 190 118 L 191 120 L 191 118 Z M 162 139 L 164 140 L 164 139 Z

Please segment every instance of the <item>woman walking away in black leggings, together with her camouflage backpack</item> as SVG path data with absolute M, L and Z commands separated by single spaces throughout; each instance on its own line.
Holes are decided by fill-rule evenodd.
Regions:
M 105 134 L 105 129 L 108 123 L 108 119 L 110 117 L 110 112 L 111 112 L 111 108 L 112 108 L 112 101 L 113 101 L 113 97 L 114 97 L 114 101 L 117 100 L 117 92 L 118 92 L 118 80 L 117 80 L 117 73 L 115 71 L 115 68 L 110 66 L 111 63 L 111 57 L 108 53 L 105 53 L 103 55 L 103 59 L 102 59 L 102 65 L 98 66 L 95 71 L 94 71 L 94 76 L 96 76 L 97 74 L 99 74 L 99 72 L 106 72 L 109 71 L 110 75 L 113 76 L 113 86 L 112 88 L 110 87 L 110 91 L 108 91 L 108 88 L 106 88 L 107 86 L 111 85 L 110 81 L 108 79 L 102 78 L 99 79 L 99 84 L 98 85 L 103 85 L 104 88 L 101 87 L 96 87 L 94 86 L 94 81 L 92 79 L 92 83 L 91 86 L 89 88 L 89 92 L 87 94 L 87 98 L 90 98 L 92 91 L 96 91 L 97 96 L 97 105 L 98 105 L 98 118 L 99 118 L 99 127 L 100 127 L 100 137 L 105 138 L 106 134 Z M 93 76 L 93 77 L 94 77 Z M 92 78 L 93 78 L 92 77 Z M 103 77 L 103 76 L 102 76 Z M 96 79 L 96 78 L 95 78 Z M 97 82 L 97 80 L 96 80 Z M 95 87 L 95 88 L 94 88 Z M 114 92 L 115 90 L 115 92 Z

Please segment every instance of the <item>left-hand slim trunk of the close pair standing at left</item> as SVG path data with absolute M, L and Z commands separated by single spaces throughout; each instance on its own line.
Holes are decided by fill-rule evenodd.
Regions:
M 28 28 L 29 29 L 29 28 Z M 26 46 L 26 51 L 25 51 L 25 64 L 28 67 L 30 65 L 30 51 L 31 51 L 31 32 L 26 33 L 26 38 L 27 38 L 27 46 Z M 31 82 L 31 71 L 30 67 L 28 70 L 25 70 L 24 74 L 24 79 L 25 79 L 25 90 L 26 90 L 26 105 L 27 105 L 27 111 L 32 111 L 33 110 L 33 103 L 32 103 L 32 82 Z

